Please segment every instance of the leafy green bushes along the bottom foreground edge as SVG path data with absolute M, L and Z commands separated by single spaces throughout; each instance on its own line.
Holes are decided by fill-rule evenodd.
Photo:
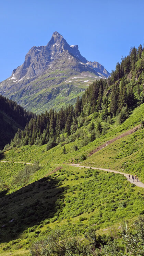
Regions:
M 31 246 L 31 255 L 143 255 L 144 249 L 144 217 L 134 223 L 136 232 L 133 234 L 127 223 L 120 226 L 120 232 L 115 235 L 96 235 L 94 228 L 85 233 L 85 240 L 77 237 L 68 237 L 63 230 L 52 231 L 47 238 L 37 241 Z M 120 240 L 120 241 L 119 241 Z

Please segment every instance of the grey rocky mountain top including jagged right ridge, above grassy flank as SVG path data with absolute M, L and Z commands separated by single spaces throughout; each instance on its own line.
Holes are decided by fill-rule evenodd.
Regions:
M 46 70 L 49 70 L 55 61 L 64 51 L 68 51 L 81 65 L 86 64 L 87 69 L 93 68 L 96 72 L 109 75 L 107 70 L 98 62 L 87 61 L 79 51 L 78 45 L 69 45 L 63 36 L 55 31 L 46 46 L 33 46 L 25 56 L 24 63 L 14 69 L 10 81 L 17 83 L 22 79 L 35 79 Z M 64 55 L 63 55 L 64 56 Z M 69 58 L 69 57 L 68 57 Z M 71 59 L 71 58 L 70 58 Z

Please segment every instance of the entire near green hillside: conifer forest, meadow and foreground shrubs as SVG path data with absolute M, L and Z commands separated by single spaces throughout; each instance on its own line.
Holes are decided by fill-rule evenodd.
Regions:
M 144 181 L 143 59 L 142 47 L 133 48 L 74 107 L 33 116 L 5 146 L 1 160 L 31 164 L 0 162 L 2 255 L 143 255 L 144 189 L 121 174 L 62 164 Z

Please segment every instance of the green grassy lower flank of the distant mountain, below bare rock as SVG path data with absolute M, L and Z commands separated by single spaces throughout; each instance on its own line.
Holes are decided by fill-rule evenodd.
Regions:
M 73 79 L 74 77 L 78 77 Z M 79 78 L 82 77 L 82 78 Z M 74 72 L 71 69 L 44 74 L 29 83 L 29 88 L 23 92 L 23 87 L 7 96 L 27 110 L 35 113 L 45 112 L 51 107 L 60 110 L 63 104 L 75 104 L 77 96 L 82 96 L 88 85 L 100 78 L 92 72 Z M 25 82 L 27 79 L 25 78 Z M 23 80 L 24 81 L 24 80 Z M 66 82 L 67 81 L 67 82 Z M 85 82 L 87 81 L 87 82 Z M 11 81 L 11 83 L 13 83 Z M 56 89 L 60 88 L 59 91 Z

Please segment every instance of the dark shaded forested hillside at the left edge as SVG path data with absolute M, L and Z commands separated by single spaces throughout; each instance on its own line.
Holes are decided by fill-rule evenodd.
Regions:
M 18 129 L 24 129 L 34 114 L 0 95 L 0 149 L 11 142 Z

